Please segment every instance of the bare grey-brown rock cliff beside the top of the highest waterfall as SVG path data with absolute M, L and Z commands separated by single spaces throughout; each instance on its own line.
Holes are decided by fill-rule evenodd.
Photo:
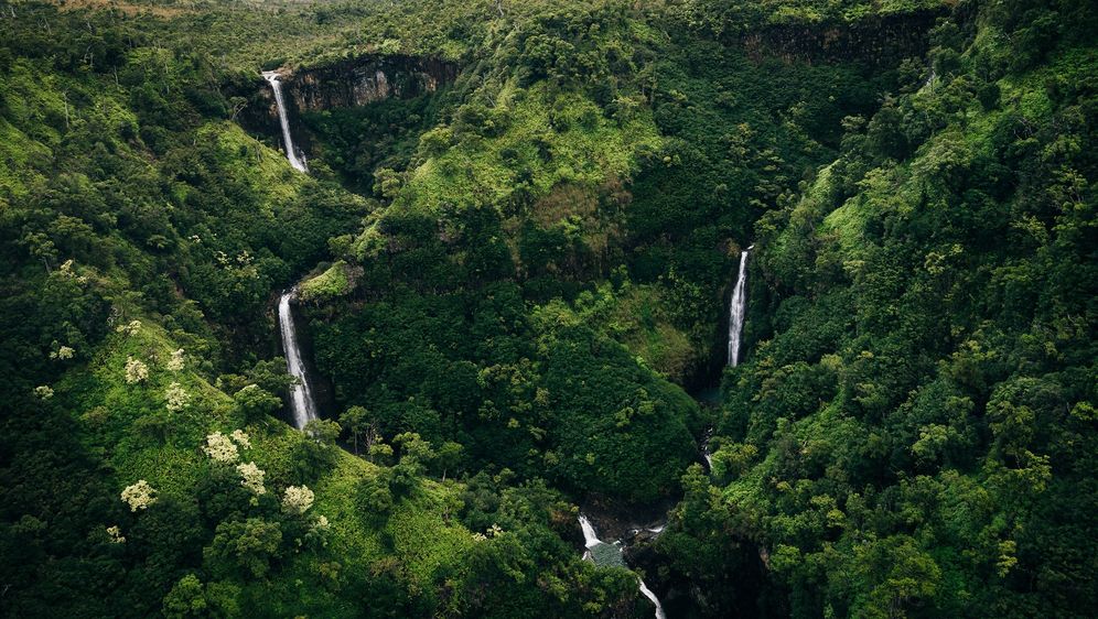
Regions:
M 433 58 L 365 56 L 294 70 L 283 88 L 292 112 L 319 111 L 434 93 L 456 76 L 456 65 Z

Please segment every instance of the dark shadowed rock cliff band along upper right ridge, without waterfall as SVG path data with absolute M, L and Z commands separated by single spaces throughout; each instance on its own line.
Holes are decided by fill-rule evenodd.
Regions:
M 922 11 L 864 18 L 855 23 L 772 25 L 742 35 L 735 43 L 754 58 L 778 56 L 787 61 L 886 66 L 926 54 L 927 34 L 944 14 L 945 10 Z

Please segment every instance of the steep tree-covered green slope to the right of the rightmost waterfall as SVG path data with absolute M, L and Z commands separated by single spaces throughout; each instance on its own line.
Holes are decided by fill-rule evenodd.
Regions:
M 988 9 L 983 28 L 1040 33 L 1048 15 Z M 723 493 L 707 507 L 688 491 L 660 547 L 700 555 L 732 529 L 746 547 L 722 566 L 758 547 L 774 582 L 761 599 L 781 597 L 783 613 L 1083 617 L 1095 604 L 1096 349 L 1067 326 L 1095 313 L 1080 234 L 1095 89 L 1042 85 L 1089 70 L 1092 53 L 1061 25 L 1058 46 L 1034 34 L 1008 57 L 967 26 L 935 29 L 935 76 L 849 119 L 839 160 L 756 225 L 772 333 L 725 373 Z M 720 588 L 719 574 L 701 578 Z

